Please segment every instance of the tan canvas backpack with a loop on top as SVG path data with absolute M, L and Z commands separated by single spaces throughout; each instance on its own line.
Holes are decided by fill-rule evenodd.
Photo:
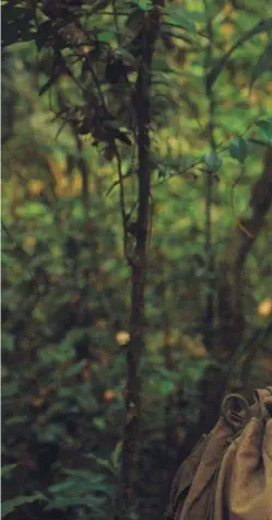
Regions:
M 255 401 L 225 397 L 215 428 L 176 474 L 168 519 L 272 520 L 272 386 Z

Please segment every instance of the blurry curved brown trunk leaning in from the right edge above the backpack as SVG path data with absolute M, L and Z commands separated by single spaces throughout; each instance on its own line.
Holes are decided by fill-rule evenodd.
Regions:
M 244 271 L 245 264 L 256 242 L 272 204 L 272 147 L 264 157 L 262 175 L 251 190 L 251 217 L 239 223 L 236 240 L 229 239 L 227 259 L 218 266 L 218 336 L 212 356 L 226 367 L 235 363 L 237 350 L 245 335 Z M 198 424 L 179 452 L 185 460 L 202 434 L 209 432 L 220 414 L 221 402 L 227 388 L 228 373 L 224 368 L 210 368 L 201 385 L 202 406 Z

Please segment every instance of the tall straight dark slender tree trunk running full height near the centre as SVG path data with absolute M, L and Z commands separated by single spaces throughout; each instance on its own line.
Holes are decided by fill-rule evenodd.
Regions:
M 153 1 L 153 9 L 146 12 L 141 34 L 141 63 L 133 106 L 137 120 L 138 145 L 138 216 L 135 222 L 135 246 L 131 265 L 131 313 L 130 343 L 127 351 L 127 420 L 123 427 L 122 458 L 120 470 L 120 493 L 117 499 L 116 520 L 128 520 L 135 506 L 135 481 L 138 450 L 141 436 L 141 377 L 140 361 L 144 348 L 144 288 L 146 276 L 146 249 L 150 220 L 150 91 L 152 60 L 159 27 L 162 2 Z

